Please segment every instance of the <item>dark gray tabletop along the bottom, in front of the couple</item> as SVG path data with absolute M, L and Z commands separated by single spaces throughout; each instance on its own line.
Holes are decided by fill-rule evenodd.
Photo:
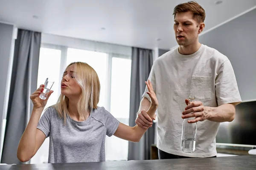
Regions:
M 256 170 L 256 156 L 0 165 L 0 170 Z

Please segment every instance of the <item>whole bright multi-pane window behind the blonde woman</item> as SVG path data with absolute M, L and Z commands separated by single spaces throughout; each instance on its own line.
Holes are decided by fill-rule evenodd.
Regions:
M 38 66 L 38 87 L 45 79 L 53 79 L 54 85 L 47 107 L 54 105 L 60 95 L 61 76 L 71 62 L 86 62 L 97 72 L 101 85 L 99 106 L 118 119 L 129 124 L 131 56 L 108 52 L 69 48 L 60 45 L 42 44 Z M 127 160 L 128 141 L 115 136 L 106 136 L 106 161 Z M 31 164 L 48 162 L 49 138 L 31 159 Z

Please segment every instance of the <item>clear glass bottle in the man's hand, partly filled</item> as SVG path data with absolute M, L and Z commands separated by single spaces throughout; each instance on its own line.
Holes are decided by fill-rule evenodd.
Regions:
M 189 104 L 194 101 L 195 96 L 189 96 Z M 195 119 L 195 117 L 184 119 L 182 123 L 181 149 L 183 152 L 187 153 L 195 151 L 197 123 L 188 123 L 188 121 L 192 119 Z

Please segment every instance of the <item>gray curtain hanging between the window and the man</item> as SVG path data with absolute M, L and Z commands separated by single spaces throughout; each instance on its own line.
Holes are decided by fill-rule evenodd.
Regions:
M 129 125 L 135 126 L 135 119 L 145 91 L 145 81 L 148 79 L 153 65 L 153 51 L 141 48 L 132 48 L 131 57 L 131 94 Z M 150 146 L 154 143 L 154 124 L 147 130 L 140 142 L 129 142 L 128 160 L 150 159 Z

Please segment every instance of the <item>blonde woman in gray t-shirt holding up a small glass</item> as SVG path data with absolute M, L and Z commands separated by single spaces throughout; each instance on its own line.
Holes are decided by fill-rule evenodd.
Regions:
M 151 82 L 145 82 L 151 98 L 148 115 L 154 118 L 158 102 Z M 31 96 L 33 110 L 17 149 L 20 161 L 29 161 L 49 137 L 49 163 L 105 161 L 105 135 L 139 142 L 145 129 L 120 123 L 103 107 L 98 107 L 100 84 L 96 71 L 83 62 L 67 66 L 61 80 L 56 105 L 46 109 L 39 98 L 41 85 Z M 39 120 L 40 119 L 40 120 Z M 38 122 L 39 121 L 39 122 Z

